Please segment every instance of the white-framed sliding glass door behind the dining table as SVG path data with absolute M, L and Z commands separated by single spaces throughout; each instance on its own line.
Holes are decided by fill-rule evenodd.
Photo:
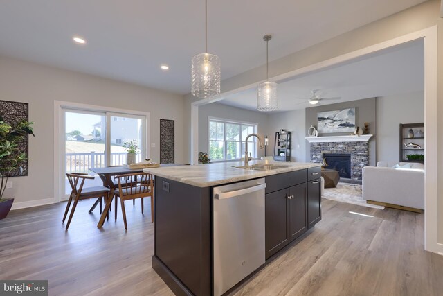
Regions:
M 127 162 L 125 143 L 137 146 L 136 162 L 145 158 L 145 116 L 115 112 L 63 109 L 64 174 L 61 183 L 64 198 L 71 186 L 65 173 L 89 173 L 89 168 L 123 166 Z M 99 177 L 87 180 L 84 186 L 98 186 Z

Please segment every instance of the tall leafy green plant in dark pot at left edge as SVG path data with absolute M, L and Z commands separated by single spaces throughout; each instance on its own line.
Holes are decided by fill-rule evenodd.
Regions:
M 14 198 L 3 199 L 8 178 L 28 161 L 26 153 L 20 150 L 19 143 L 24 141 L 28 134 L 34 136 L 32 125 L 32 122 L 26 120 L 9 125 L 0 115 L 0 220 L 8 215 L 14 202 Z

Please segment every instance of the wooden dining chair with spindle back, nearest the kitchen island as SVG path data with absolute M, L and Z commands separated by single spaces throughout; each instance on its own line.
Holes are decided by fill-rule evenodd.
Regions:
M 122 207 L 123 222 L 127 229 L 125 200 L 141 198 L 141 212 L 143 214 L 143 198 L 151 198 L 151 222 L 154 222 L 154 182 L 152 175 L 148 173 L 132 173 L 116 176 L 118 180 L 118 192 Z

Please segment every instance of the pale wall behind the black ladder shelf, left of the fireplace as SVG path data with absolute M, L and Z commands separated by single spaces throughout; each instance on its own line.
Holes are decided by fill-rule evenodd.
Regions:
M 305 109 L 293 110 L 289 112 L 280 112 L 269 115 L 269 147 L 271 147 L 271 153 L 275 142 L 275 132 L 278 130 L 289 130 L 292 132 L 291 140 L 291 161 L 292 162 L 309 162 L 306 159 L 306 127 L 305 127 Z

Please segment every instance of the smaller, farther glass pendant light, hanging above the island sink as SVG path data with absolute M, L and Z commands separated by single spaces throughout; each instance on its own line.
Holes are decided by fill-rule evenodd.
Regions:
M 258 85 L 257 92 L 257 110 L 258 111 L 275 111 L 278 110 L 277 101 L 277 83 L 268 80 L 268 42 L 271 35 L 264 35 L 263 40 L 266 41 L 266 82 Z

